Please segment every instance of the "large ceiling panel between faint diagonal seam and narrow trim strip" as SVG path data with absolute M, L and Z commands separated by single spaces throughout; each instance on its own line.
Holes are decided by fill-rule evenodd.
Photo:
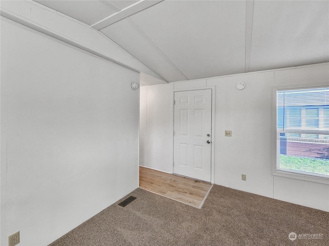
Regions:
M 245 13 L 244 1 L 163 1 L 131 18 L 195 79 L 244 72 Z

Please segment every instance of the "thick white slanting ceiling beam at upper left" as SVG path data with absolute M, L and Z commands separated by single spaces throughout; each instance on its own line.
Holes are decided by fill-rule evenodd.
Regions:
M 122 9 L 121 11 L 112 14 L 102 20 L 100 20 L 98 23 L 95 23 L 92 25 L 92 28 L 95 28 L 96 30 L 100 30 L 104 27 L 107 27 L 109 25 L 112 25 L 116 22 L 118 22 L 121 19 L 124 19 L 126 17 L 129 17 L 133 14 L 138 13 L 139 11 L 142 11 L 144 9 L 147 9 L 155 4 L 158 4 L 162 2 L 163 0 L 154 0 L 154 1 L 144 1 L 141 0 L 137 2 L 136 4 L 133 4 L 125 9 Z

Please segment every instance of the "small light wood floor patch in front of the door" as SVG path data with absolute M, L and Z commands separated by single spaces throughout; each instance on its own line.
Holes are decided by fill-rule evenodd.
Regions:
M 211 183 L 139 167 L 139 188 L 201 208 Z

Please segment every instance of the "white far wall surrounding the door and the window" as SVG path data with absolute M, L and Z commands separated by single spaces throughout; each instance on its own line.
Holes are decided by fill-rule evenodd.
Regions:
M 236 84 L 246 84 L 244 90 L 237 90 Z M 215 163 L 214 182 L 217 185 L 272 197 L 303 206 L 329 211 L 329 186 L 322 183 L 272 175 L 272 87 L 279 85 L 300 85 L 327 83 L 329 65 L 294 67 L 281 70 L 236 74 L 231 76 L 181 81 L 170 85 L 153 86 L 152 105 L 157 110 L 149 117 L 168 122 L 170 126 L 161 131 L 155 122 L 147 125 L 147 132 L 157 131 L 157 138 L 148 138 L 146 149 L 149 156 L 160 153 L 168 158 L 157 158 L 147 167 L 172 172 L 172 99 L 173 89 L 215 86 Z M 172 87 L 173 86 L 173 87 Z M 173 88 L 173 89 L 172 89 Z M 165 94 L 166 93 L 166 94 Z M 164 100 L 163 98 L 166 98 Z M 149 111 L 149 95 L 147 96 Z M 141 98 L 145 100 L 145 98 Z M 154 106 L 153 106 L 154 107 Z M 224 131 L 231 130 L 232 137 L 225 137 Z M 160 134 L 161 133 L 161 134 Z M 162 139 L 158 142 L 157 139 Z M 157 148 L 150 147 L 157 145 Z M 241 180 L 247 175 L 247 181 Z

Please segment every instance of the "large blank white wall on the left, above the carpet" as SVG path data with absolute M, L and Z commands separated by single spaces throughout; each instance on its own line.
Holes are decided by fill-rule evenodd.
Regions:
M 137 188 L 138 80 L 2 18 L 1 245 L 47 245 Z

